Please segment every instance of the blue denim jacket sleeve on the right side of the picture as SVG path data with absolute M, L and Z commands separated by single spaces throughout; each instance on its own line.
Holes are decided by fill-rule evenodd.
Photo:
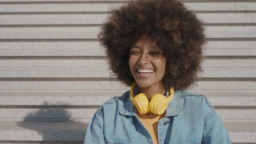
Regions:
M 220 115 L 214 112 L 203 125 L 202 144 L 231 144 Z

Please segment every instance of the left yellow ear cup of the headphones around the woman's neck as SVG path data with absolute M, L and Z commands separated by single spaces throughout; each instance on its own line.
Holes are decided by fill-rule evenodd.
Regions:
M 135 96 L 134 101 L 132 101 L 137 108 L 139 114 L 146 114 L 149 112 L 148 109 L 148 98 L 143 93 Z

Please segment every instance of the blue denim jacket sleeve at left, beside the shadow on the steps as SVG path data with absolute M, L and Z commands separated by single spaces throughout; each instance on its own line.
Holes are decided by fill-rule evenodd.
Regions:
M 103 122 L 103 118 L 95 112 L 87 127 L 84 144 L 105 144 Z

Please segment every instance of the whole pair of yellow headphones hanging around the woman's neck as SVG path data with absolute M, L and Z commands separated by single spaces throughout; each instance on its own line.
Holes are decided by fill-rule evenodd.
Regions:
M 130 97 L 132 103 L 137 108 L 139 114 L 146 114 L 151 111 L 153 114 L 161 115 L 167 108 L 169 102 L 173 99 L 174 96 L 174 88 L 170 88 L 171 95 L 165 97 L 162 94 L 156 94 L 151 98 L 150 102 L 148 102 L 148 98 L 143 93 L 140 93 L 134 97 L 133 90 L 135 88 L 136 82 L 133 82 L 130 90 Z M 148 104 L 149 103 L 149 104 Z

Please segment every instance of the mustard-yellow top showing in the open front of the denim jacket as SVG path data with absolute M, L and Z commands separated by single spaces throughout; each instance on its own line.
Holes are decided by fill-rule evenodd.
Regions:
M 154 115 L 151 117 L 148 117 L 147 114 L 138 114 L 138 117 L 150 132 L 154 144 L 158 144 L 158 123 L 161 118 L 164 118 L 165 113 L 166 111 L 164 111 L 162 115 Z

